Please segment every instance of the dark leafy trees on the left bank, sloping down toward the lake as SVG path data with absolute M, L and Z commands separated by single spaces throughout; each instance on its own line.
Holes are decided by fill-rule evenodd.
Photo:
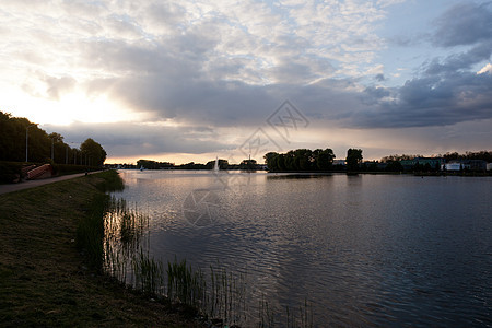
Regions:
M 24 117 L 0 112 L 0 161 L 101 166 L 103 147 L 89 138 L 71 148 L 60 133 L 47 133 Z

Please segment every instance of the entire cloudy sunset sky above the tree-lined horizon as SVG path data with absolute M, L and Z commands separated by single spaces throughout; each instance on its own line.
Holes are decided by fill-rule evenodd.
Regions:
M 107 163 L 492 149 L 492 1 L 0 7 L 0 110 Z

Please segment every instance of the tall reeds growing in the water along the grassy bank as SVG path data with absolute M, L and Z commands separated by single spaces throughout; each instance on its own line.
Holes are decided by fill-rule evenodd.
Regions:
M 110 184 L 113 189 L 122 186 L 118 179 Z M 257 327 L 274 327 L 278 324 L 278 313 L 265 298 L 259 303 L 258 318 L 250 318 L 246 274 L 235 276 L 213 266 L 210 266 L 210 274 L 204 274 L 177 258 L 167 261 L 164 270 L 162 262 L 149 254 L 149 231 L 148 215 L 136 207 L 130 209 L 124 199 L 104 195 L 93 200 L 87 218 L 79 225 L 77 242 L 97 270 L 145 294 L 192 306 L 218 326 L 255 323 Z M 296 314 L 297 311 L 288 307 L 286 323 L 280 326 L 313 327 L 312 307 L 307 302 Z

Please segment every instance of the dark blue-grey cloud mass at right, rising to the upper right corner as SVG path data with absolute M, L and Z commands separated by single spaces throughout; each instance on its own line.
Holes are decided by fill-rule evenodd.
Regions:
M 402 86 L 368 86 L 360 106 L 344 120 L 349 127 L 401 128 L 449 126 L 492 118 L 492 74 L 473 69 L 492 55 L 491 3 L 461 3 L 437 20 L 432 35 L 442 47 L 468 46 L 423 63 L 422 74 Z

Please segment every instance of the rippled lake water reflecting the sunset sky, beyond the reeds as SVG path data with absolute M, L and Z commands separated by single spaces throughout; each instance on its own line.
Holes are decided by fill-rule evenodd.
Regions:
M 150 251 L 315 327 L 492 326 L 492 178 L 120 171 Z M 280 326 L 284 326 L 280 324 Z

